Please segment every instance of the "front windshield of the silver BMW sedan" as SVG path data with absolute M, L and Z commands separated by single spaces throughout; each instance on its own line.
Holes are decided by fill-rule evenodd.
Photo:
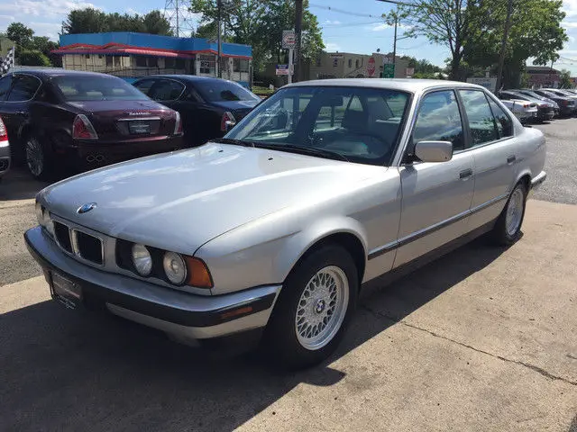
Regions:
M 388 165 L 406 117 L 409 94 L 397 90 L 295 86 L 279 90 L 249 113 L 226 138 L 256 147 L 352 162 Z

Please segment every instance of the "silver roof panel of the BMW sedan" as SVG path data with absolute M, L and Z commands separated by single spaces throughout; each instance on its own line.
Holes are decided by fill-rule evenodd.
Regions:
M 463 83 L 460 81 L 445 81 L 443 79 L 417 79 L 417 78 L 334 78 L 314 79 L 294 84 L 284 85 L 283 88 L 295 86 L 347 86 L 347 87 L 371 87 L 400 90 L 405 92 L 423 92 L 439 87 L 468 87 L 486 90 L 481 85 Z

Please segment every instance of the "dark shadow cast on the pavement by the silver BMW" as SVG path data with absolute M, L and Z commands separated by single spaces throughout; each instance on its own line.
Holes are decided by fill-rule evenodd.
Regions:
M 258 353 L 219 356 L 56 302 L 10 311 L 0 315 L 0 429 L 233 430 L 259 413 L 275 415 L 270 405 L 300 383 L 346 380 L 335 360 L 502 252 L 478 239 L 380 290 L 370 288 L 337 353 L 299 373 L 280 372 Z

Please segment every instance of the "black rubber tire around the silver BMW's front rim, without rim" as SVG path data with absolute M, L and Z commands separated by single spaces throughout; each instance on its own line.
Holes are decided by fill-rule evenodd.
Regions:
M 307 284 L 313 276 L 325 267 L 340 269 L 348 282 L 348 304 L 344 308 L 344 318 L 333 337 L 327 339 L 323 347 L 308 349 L 298 340 L 296 317 L 298 303 Z M 345 286 L 345 285 L 343 285 Z M 343 288 L 343 292 L 345 288 Z M 317 365 L 330 356 L 338 347 L 356 307 L 359 293 L 359 277 L 351 255 L 340 246 L 320 247 L 304 257 L 290 273 L 279 294 L 269 325 L 265 330 L 264 347 L 272 356 L 275 365 L 296 370 Z M 337 303 L 338 304 L 338 303 Z M 330 307 L 330 305 L 328 306 Z M 325 309 L 325 308 L 323 308 Z M 337 308 L 338 309 L 338 308 Z M 317 313 L 322 313 L 316 311 Z M 337 312 L 338 313 L 338 312 Z M 331 315 L 338 320 L 336 313 Z M 330 320 L 328 322 L 331 322 Z

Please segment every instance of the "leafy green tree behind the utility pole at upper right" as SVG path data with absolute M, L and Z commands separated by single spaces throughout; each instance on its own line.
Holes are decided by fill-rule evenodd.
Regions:
M 536 65 L 559 58 L 557 52 L 568 40 L 561 26 L 565 17 L 562 6 L 561 0 L 513 1 L 503 69 L 505 87 L 520 85 L 528 58 L 534 58 Z M 472 11 L 472 20 L 479 26 L 465 43 L 464 58 L 469 64 L 492 67 L 498 63 L 506 15 L 507 4 L 499 0 L 485 0 Z

